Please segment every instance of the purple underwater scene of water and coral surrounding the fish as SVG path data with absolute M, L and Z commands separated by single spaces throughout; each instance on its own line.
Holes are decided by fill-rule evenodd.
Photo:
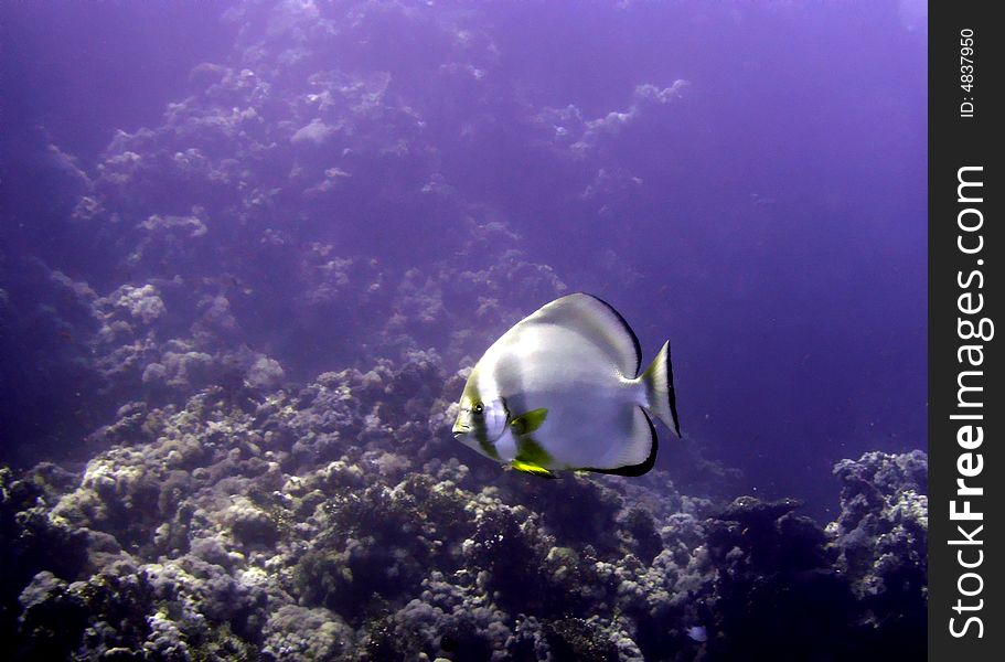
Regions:
M 926 4 L 0 4 L 0 658 L 920 659 Z M 641 478 L 456 442 L 565 293 Z

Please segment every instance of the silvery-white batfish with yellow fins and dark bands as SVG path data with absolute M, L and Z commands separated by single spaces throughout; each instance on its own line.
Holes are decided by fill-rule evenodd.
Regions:
M 653 417 L 678 437 L 670 341 L 643 372 L 642 348 L 610 303 L 585 292 L 522 319 L 475 363 L 456 440 L 504 467 L 642 476 L 659 449 Z

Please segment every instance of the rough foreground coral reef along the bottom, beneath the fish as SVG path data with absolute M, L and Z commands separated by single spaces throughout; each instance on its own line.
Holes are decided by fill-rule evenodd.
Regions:
M 923 583 L 904 583 L 923 579 L 923 556 L 904 554 L 924 544 L 922 453 L 840 463 L 843 511 L 825 532 L 795 501 L 686 498 L 662 471 L 542 481 L 461 463 L 443 441 L 453 381 L 416 353 L 296 392 L 211 387 L 181 407 L 125 407 L 79 477 L 3 469 L 0 628 L 14 659 L 906 645 L 884 596 L 923 612 Z

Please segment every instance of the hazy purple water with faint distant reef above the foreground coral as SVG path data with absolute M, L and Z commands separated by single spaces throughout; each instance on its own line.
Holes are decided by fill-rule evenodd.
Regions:
M 663 430 L 657 468 L 691 445 L 742 471 L 737 493 L 825 514 L 836 460 L 924 448 L 923 7 L 7 2 L 0 21 L 7 462 L 86 459 L 122 404 L 261 357 L 293 384 L 413 350 L 452 373 L 576 290 L 646 363 L 672 341 L 685 438 Z M 122 312 L 127 285 L 163 310 Z

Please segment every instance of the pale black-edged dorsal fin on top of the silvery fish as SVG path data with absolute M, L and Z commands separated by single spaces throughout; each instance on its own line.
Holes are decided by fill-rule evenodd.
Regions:
M 594 295 L 576 292 L 555 299 L 524 322 L 558 324 L 576 331 L 603 352 L 624 377 L 634 378 L 642 366 L 642 348 L 634 331 L 620 312 Z

